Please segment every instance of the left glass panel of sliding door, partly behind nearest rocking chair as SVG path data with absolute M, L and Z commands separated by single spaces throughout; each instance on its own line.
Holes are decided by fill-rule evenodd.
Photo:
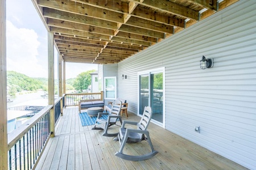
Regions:
M 139 114 L 143 114 L 144 107 L 149 105 L 148 74 L 139 75 Z

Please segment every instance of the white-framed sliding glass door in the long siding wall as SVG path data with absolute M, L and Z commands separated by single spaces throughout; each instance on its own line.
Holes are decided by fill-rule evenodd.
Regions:
M 139 73 L 139 114 L 144 107 L 152 109 L 152 120 L 163 125 L 164 119 L 164 68 Z

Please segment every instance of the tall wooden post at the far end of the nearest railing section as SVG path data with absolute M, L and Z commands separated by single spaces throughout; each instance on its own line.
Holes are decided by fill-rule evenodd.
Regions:
M 53 105 L 50 110 L 50 130 L 51 137 L 55 136 L 55 116 L 54 116 L 54 46 L 53 33 L 48 32 L 48 104 Z

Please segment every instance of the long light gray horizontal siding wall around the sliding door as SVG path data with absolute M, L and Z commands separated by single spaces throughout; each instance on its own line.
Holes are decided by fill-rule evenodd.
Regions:
M 118 63 L 118 97 L 137 114 L 138 72 L 165 67 L 165 128 L 256 169 L 255 9 L 239 1 Z M 200 69 L 203 55 L 213 68 Z

